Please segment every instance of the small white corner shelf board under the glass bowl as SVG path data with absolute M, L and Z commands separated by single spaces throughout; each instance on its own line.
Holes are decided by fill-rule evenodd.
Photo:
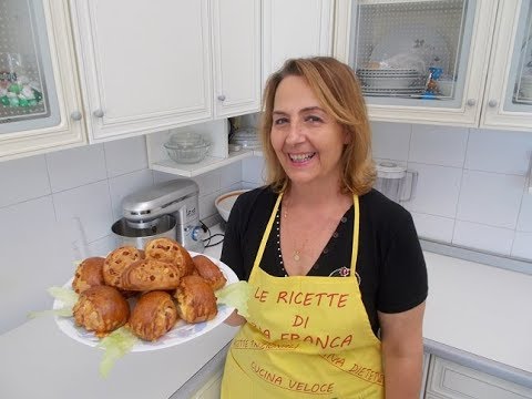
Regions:
M 194 177 L 206 172 L 214 171 L 222 166 L 229 165 L 234 162 L 254 156 L 255 151 L 237 151 L 229 153 L 228 157 L 222 158 L 216 156 L 207 156 L 205 160 L 194 164 L 180 164 L 172 160 L 163 160 L 151 165 L 153 171 L 177 174 L 185 177 Z

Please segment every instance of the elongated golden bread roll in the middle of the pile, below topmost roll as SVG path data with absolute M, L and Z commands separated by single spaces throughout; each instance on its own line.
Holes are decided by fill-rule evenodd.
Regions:
M 122 272 L 120 286 L 141 291 L 175 289 L 184 273 L 185 269 L 175 264 L 151 258 L 141 259 Z

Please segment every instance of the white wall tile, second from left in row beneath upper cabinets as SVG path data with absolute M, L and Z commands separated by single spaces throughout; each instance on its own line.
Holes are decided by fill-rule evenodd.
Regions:
M 80 187 L 105 180 L 103 145 L 85 145 L 47 154 L 52 192 Z

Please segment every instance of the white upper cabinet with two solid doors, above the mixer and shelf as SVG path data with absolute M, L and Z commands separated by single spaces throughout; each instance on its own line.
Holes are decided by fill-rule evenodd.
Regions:
M 258 110 L 259 0 L 72 6 L 92 142 Z

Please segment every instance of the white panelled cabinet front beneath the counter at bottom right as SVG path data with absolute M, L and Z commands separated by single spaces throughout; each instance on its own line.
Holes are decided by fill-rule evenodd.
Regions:
M 431 357 L 427 398 L 449 399 L 532 399 L 532 390 L 513 382 Z

